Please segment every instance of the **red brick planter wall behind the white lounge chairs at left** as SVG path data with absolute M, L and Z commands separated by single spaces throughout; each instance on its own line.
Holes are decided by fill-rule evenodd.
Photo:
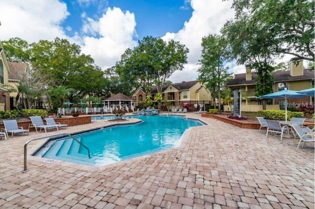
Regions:
M 91 116 L 81 116 L 81 117 L 69 117 L 69 118 L 54 118 L 56 123 L 68 124 L 68 126 L 83 125 L 91 123 Z M 45 119 L 43 119 L 44 122 Z M 18 121 L 18 126 L 23 127 L 23 129 L 29 129 L 29 124 L 32 124 L 31 120 Z M 4 128 L 3 122 L 0 123 L 0 128 Z M 35 128 L 31 128 L 30 131 L 35 131 Z

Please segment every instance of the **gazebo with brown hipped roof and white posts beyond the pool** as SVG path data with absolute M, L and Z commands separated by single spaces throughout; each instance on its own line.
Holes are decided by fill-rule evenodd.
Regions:
M 127 112 L 129 112 L 129 109 L 134 111 L 133 106 L 132 106 L 133 101 L 134 99 L 130 98 L 129 96 L 126 96 L 123 93 L 117 93 L 111 97 L 104 99 L 103 106 L 107 107 L 106 112 L 109 112 L 109 110 L 111 110 L 110 112 L 112 112 L 112 110 L 118 109 L 118 108 L 119 109 L 125 108 Z M 107 106 L 106 106 L 106 102 L 107 102 Z

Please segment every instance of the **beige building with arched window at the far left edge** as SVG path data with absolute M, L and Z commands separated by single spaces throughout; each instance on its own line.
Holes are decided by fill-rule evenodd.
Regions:
M 10 95 L 8 90 L 9 67 L 0 41 L 0 111 L 10 110 Z

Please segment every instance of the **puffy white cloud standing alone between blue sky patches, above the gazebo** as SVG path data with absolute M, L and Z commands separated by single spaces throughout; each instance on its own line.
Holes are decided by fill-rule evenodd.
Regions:
M 89 25 L 90 23 L 90 25 Z M 86 36 L 83 38 L 82 52 L 91 55 L 95 63 L 106 69 L 115 65 L 127 48 L 133 48 L 135 34 L 134 14 L 114 7 L 108 8 L 98 21 L 88 21 L 84 26 L 86 32 L 97 33 L 99 38 Z

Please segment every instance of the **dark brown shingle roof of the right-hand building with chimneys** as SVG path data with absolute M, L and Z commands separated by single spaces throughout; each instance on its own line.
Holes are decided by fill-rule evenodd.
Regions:
M 314 79 L 314 69 L 304 69 L 302 76 L 290 76 L 290 71 L 273 72 L 274 82 L 300 81 Z M 246 73 L 235 74 L 234 79 L 227 83 L 227 87 L 241 85 L 256 85 L 257 73 L 252 72 L 252 80 L 246 81 Z

